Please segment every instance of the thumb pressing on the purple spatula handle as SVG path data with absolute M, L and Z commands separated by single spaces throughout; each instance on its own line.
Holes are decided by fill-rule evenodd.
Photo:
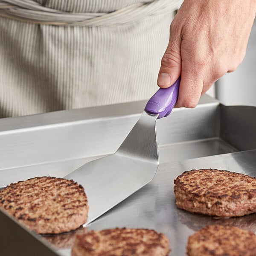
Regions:
M 170 40 L 161 61 L 157 84 L 161 88 L 170 87 L 181 73 L 181 37 L 170 29 Z

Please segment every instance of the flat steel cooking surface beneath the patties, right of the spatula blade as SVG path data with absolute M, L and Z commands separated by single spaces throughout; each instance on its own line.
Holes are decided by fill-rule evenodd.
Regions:
M 177 209 L 173 192 L 174 179 L 184 171 L 216 168 L 256 176 L 255 167 L 256 150 L 160 164 L 154 180 L 91 223 L 88 229 L 154 229 L 168 236 L 172 248 L 170 256 L 185 256 L 188 236 L 208 224 L 232 224 L 255 232 L 256 214 L 229 219 L 192 214 Z M 68 251 L 60 253 L 69 255 Z

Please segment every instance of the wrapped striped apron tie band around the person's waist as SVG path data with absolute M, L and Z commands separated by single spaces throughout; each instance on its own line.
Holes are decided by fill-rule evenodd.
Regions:
M 114 12 L 63 12 L 33 0 L 0 1 L 0 16 L 29 23 L 58 26 L 115 26 L 136 23 L 147 17 L 165 15 L 177 9 L 177 2 L 155 0 L 135 3 Z

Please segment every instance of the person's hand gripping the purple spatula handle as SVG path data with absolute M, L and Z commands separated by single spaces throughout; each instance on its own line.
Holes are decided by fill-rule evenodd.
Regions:
M 157 79 L 166 88 L 181 75 L 175 107 L 194 108 L 216 80 L 236 70 L 255 14 L 256 0 L 184 0 L 170 26 Z

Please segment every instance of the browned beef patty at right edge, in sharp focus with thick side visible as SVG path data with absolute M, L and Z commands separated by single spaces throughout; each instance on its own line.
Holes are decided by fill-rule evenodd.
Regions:
M 256 178 L 241 173 L 202 169 L 174 180 L 177 207 L 218 217 L 256 212 Z

